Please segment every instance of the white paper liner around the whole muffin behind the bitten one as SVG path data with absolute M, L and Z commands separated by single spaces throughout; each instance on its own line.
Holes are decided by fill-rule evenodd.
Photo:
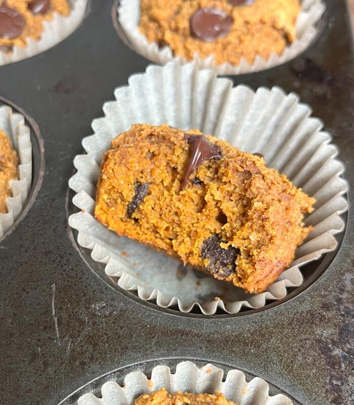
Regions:
M 118 22 L 126 36 L 128 45 L 138 54 L 161 65 L 173 59 L 186 62 L 181 56 L 174 57 L 169 47 L 160 49 L 156 43 L 148 42 L 146 36 L 139 31 L 140 0 L 120 0 L 117 11 Z M 216 65 L 213 55 L 203 59 L 197 53 L 194 55 L 193 60 L 201 68 L 212 69 L 217 74 L 233 75 L 258 72 L 281 65 L 300 55 L 312 43 L 318 32 L 317 23 L 324 11 L 325 5 L 322 0 L 302 0 L 301 12 L 296 20 L 297 38 L 285 48 L 281 55 L 272 53 L 268 60 L 264 60 L 260 55 L 257 55 L 251 65 L 244 58 L 241 59 L 237 66 L 231 63 Z

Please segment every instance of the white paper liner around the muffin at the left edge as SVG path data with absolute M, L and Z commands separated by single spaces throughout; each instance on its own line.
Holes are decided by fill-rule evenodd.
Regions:
M 0 239 L 12 227 L 27 200 L 32 184 L 32 144 L 25 118 L 12 108 L 0 105 L 0 130 L 11 139 L 19 158 L 18 180 L 11 180 L 11 196 L 6 199 L 8 212 L 0 213 Z

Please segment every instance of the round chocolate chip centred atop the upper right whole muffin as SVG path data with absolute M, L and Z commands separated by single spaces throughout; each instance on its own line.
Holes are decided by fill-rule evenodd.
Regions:
M 202 41 L 211 42 L 224 38 L 230 31 L 234 19 L 225 11 L 215 8 L 198 9 L 192 16 L 192 34 Z

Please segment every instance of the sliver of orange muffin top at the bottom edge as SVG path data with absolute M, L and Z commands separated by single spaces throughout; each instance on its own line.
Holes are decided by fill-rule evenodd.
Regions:
M 225 398 L 224 394 L 192 394 L 175 392 L 169 394 L 165 388 L 151 394 L 143 394 L 136 399 L 135 405 L 237 405 Z

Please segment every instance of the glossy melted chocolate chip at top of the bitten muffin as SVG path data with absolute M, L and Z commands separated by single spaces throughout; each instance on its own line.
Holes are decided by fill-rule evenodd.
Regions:
M 217 145 L 213 145 L 204 135 L 185 134 L 185 139 L 191 144 L 192 151 L 185 170 L 182 189 L 186 187 L 190 175 L 198 169 L 204 160 L 218 160 L 223 157 L 221 149 Z

